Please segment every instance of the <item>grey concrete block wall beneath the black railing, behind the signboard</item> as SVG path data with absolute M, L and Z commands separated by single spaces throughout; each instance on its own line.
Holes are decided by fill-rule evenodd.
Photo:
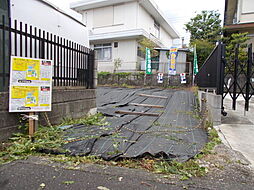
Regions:
M 0 141 L 7 140 L 13 132 L 17 132 L 19 116 L 8 112 L 9 93 L 0 93 Z M 53 89 L 52 112 L 48 112 L 50 122 L 61 123 L 63 118 L 79 118 L 96 108 L 95 89 L 86 88 L 56 88 Z M 42 123 L 44 118 L 40 116 Z

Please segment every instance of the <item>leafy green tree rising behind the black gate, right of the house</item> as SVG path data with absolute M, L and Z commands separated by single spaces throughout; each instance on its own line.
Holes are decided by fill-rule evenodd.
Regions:
M 185 30 L 190 32 L 191 39 L 208 40 L 215 43 L 221 35 L 221 20 L 218 11 L 202 11 L 185 24 Z

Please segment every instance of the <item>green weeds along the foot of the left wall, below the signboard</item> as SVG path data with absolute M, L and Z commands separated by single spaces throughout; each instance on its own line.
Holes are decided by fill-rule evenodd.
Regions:
M 96 114 L 76 120 L 65 119 L 61 126 L 72 124 L 104 126 L 108 124 L 105 119 L 106 117 L 103 117 L 102 114 Z M 39 153 L 41 150 L 65 152 L 61 149 L 61 146 L 65 143 L 63 136 L 64 131 L 59 129 L 58 126 L 39 126 L 34 134 L 34 140 L 25 133 L 15 133 L 9 139 L 8 146 L 6 144 L 1 146 L 0 164 L 26 159 L 30 155 L 42 155 Z

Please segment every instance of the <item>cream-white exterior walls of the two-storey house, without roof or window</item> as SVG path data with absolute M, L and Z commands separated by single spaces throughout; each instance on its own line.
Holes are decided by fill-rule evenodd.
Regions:
M 103 34 L 123 32 L 131 30 L 144 30 L 143 35 L 149 37 L 160 47 L 172 47 L 172 37 L 160 27 L 159 38 L 155 37 L 154 18 L 141 6 L 138 1 L 132 1 L 112 6 L 88 9 L 80 11 L 82 13 L 83 23 L 87 26 L 90 36 L 101 36 L 91 42 L 94 44 L 112 43 L 112 60 L 98 61 L 98 71 L 114 71 L 114 59 L 120 58 L 122 66 L 118 72 L 136 71 L 140 64 L 140 58 L 137 56 L 137 40 L 141 36 L 121 37 L 112 40 Z M 100 35 L 99 35 L 100 34 Z M 110 36 L 110 35 L 109 35 Z M 103 40 L 102 40 L 103 39 Z M 120 40 L 121 39 L 121 40 Z M 118 42 L 118 48 L 113 47 L 113 42 Z M 138 63 L 139 62 L 139 63 Z

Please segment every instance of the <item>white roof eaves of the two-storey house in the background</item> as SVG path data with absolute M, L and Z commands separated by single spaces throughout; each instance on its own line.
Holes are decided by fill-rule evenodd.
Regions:
M 76 11 L 84 11 L 93 8 L 105 7 L 119 3 L 131 2 L 134 0 L 82 0 L 78 2 L 71 3 L 71 9 Z M 172 38 L 179 38 L 179 34 L 176 30 L 170 25 L 167 21 L 161 10 L 158 8 L 153 0 L 142 0 L 139 1 L 139 4 L 143 6 L 154 19 L 160 23 L 160 25 L 170 34 Z

